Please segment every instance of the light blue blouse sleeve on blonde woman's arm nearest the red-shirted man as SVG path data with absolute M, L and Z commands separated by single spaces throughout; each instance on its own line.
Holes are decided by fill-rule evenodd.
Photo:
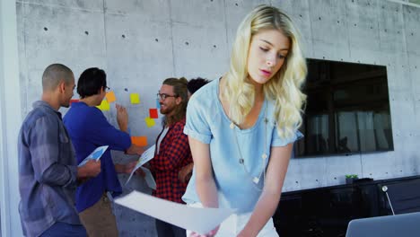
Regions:
M 184 127 L 184 133 L 204 144 L 209 144 L 212 133 L 206 118 L 208 117 L 199 102 L 199 98 L 193 95 L 188 101 L 187 123 Z

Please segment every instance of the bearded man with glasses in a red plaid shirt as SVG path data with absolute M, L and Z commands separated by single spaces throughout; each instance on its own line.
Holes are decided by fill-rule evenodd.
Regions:
M 187 79 L 168 78 L 158 93 L 163 118 L 163 129 L 156 139 L 156 151 L 150 161 L 156 190 L 153 196 L 172 202 L 183 203 L 182 195 L 187 183 L 179 180 L 182 167 L 192 162 L 188 136 L 183 132 L 187 112 L 188 90 Z M 185 237 L 186 231 L 178 226 L 156 219 L 156 230 L 159 237 Z

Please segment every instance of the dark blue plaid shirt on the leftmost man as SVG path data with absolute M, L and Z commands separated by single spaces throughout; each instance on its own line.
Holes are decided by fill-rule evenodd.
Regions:
M 56 222 L 81 224 L 74 207 L 77 163 L 61 113 L 33 103 L 18 138 L 19 190 L 25 236 L 39 236 Z

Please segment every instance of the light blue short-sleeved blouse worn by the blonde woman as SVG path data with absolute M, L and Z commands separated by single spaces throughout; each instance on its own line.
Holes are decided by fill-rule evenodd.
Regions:
M 292 138 L 280 138 L 273 116 L 274 101 L 267 99 L 253 127 L 241 129 L 232 126 L 218 99 L 219 81 L 206 84 L 188 101 L 184 133 L 210 145 L 219 206 L 237 209 L 238 213 L 251 212 L 261 195 L 264 173 L 257 183 L 253 180 L 263 172 L 263 167 L 267 168 L 270 147 L 293 143 L 302 134 L 296 130 Z M 266 160 L 262 158 L 264 154 L 267 154 Z M 241 157 L 244 165 L 240 163 Z M 195 170 L 182 199 L 187 204 L 200 202 L 196 191 Z

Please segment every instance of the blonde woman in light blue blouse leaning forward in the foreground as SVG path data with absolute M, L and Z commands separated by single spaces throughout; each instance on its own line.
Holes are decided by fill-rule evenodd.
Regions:
M 237 210 L 202 236 L 278 236 L 271 216 L 302 136 L 306 73 L 291 19 L 260 5 L 241 22 L 230 70 L 191 97 L 184 133 L 195 166 L 183 200 Z

